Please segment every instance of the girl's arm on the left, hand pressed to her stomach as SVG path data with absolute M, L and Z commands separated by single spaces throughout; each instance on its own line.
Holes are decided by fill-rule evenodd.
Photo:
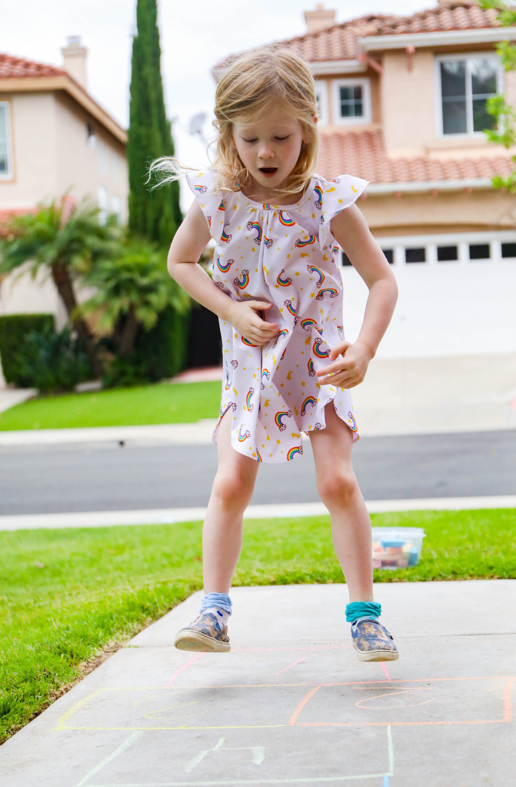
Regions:
M 186 292 L 247 339 L 264 344 L 276 336 L 277 323 L 261 320 L 254 309 L 269 309 L 265 301 L 235 301 L 221 290 L 197 262 L 210 241 L 210 230 L 197 200 L 193 201 L 170 245 L 169 274 Z

